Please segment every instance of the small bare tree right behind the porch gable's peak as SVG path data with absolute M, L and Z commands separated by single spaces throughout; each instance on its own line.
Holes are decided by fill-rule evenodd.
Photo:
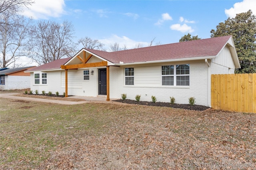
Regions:
M 102 44 L 98 39 L 91 39 L 89 37 L 80 38 L 78 40 L 78 44 L 82 44 L 84 48 L 86 49 L 97 49 L 97 50 L 103 50 L 104 44 Z

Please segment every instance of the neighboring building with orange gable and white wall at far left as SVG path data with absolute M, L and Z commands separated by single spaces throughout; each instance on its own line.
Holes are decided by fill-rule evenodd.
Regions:
M 1 90 L 30 88 L 30 73 L 24 71 L 34 67 L 0 68 Z

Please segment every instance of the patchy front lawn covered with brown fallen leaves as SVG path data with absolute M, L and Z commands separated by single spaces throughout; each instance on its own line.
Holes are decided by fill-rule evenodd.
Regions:
M 256 114 L 0 99 L 0 169 L 256 169 Z

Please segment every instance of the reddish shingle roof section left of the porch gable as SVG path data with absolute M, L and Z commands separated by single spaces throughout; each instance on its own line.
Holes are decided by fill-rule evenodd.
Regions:
M 58 59 L 58 60 L 52 61 L 50 63 L 40 65 L 36 68 L 32 68 L 32 69 L 28 70 L 27 72 L 42 71 L 42 70 L 59 70 L 60 66 L 65 64 L 70 59 L 71 58 Z

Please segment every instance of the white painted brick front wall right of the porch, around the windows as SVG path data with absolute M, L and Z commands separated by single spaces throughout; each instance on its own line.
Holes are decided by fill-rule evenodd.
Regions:
M 176 103 L 188 104 L 188 98 L 195 97 L 196 104 L 208 106 L 208 66 L 204 61 L 190 64 L 190 86 L 161 86 L 161 65 L 134 66 L 134 86 L 125 86 L 124 67 L 110 68 L 110 98 L 121 98 L 125 93 L 131 100 L 139 94 L 142 101 L 151 101 L 151 96 L 156 96 L 158 102 L 170 102 L 173 96 Z M 154 70 L 152 75 L 148 72 L 150 68 Z M 143 76 L 148 80 L 140 80 Z

